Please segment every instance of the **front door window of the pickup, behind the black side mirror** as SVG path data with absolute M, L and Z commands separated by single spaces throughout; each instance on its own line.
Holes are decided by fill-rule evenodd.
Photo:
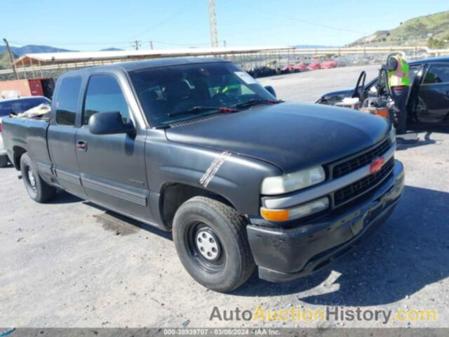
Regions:
M 83 110 L 83 124 L 97 112 L 120 112 L 123 122 L 128 123 L 129 110 L 119 83 L 110 75 L 93 75 L 89 79 Z

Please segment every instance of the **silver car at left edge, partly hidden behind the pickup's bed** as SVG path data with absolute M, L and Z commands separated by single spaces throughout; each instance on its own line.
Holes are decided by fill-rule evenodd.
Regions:
M 11 114 L 20 114 L 42 103 L 50 103 L 50 100 L 42 96 L 0 99 L 0 167 L 8 165 L 8 156 L 1 135 L 2 119 Z

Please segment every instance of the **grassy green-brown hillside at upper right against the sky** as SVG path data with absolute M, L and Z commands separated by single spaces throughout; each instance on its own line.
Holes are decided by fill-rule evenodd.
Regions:
M 349 46 L 449 46 L 449 11 L 420 16 L 390 30 L 380 30 Z

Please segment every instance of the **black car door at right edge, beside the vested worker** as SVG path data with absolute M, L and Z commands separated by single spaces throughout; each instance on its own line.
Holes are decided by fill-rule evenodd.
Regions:
M 418 92 L 417 118 L 438 123 L 449 114 L 449 63 L 432 63 Z

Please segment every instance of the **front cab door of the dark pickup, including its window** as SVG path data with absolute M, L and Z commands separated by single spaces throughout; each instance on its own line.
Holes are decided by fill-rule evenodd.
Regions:
M 89 118 L 98 112 L 120 112 L 133 122 L 119 79 L 113 74 L 93 74 L 88 79 L 76 134 L 76 156 L 81 183 L 88 199 L 139 220 L 151 220 L 145 173 L 145 130 L 135 135 L 94 135 Z M 136 125 L 135 123 L 133 123 Z

